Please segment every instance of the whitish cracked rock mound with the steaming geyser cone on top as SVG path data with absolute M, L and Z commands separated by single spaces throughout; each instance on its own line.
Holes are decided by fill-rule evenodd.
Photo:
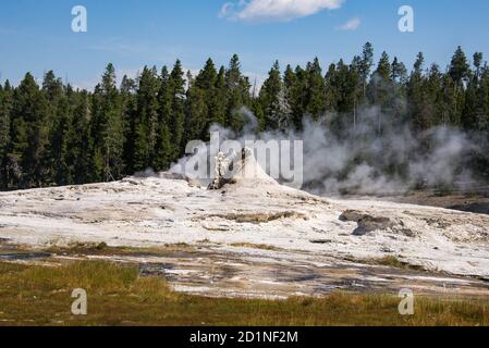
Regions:
M 246 166 L 259 175 L 250 181 L 235 176 L 234 184 L 218 190 L 158 175 L 1 192 L 0 238 L 32 246 L 54 241 L 145 247 L 208 240 L 221 248 L 256 244 L 338 260 L 394 256 L 431 271 L 489 278 L 487 215 L 323 199 L 277 184 L 254 162 Z M 60 196 L 64 199 L 59 200 Z M 355 219 L 340 220 L 349 210 L 371 217 L 364 233 L 354 235 L 359 227 Z

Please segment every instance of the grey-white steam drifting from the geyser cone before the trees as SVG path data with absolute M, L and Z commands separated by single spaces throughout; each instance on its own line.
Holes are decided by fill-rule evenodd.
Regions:
M 249 110 L 240 112 L 246 115 L 248 125 L 258 125 Z M 274 140 L 303 141 L 303 188 L 318 195 L 392 195 L 421 187 L 468 188 L 477 182 L 468 164 L 470 156 L 479 152 L 481 147 L 475 138 L 455 127 L 439 125 L 416 136 L 407 125 L 401 124 L 384 127 L 378 134 L 378 120 L 387 115 L 382 115 L 378 107 L 368 107 L 359 111 L 360 121 L 356 127 L 337 134 L 330 129 L 330 123 L 337 116 L 327 114 L 321 121 L 305 117 L 301 130 L 260 133 L 248 126 L 236 134 L 216 124 L 210 132 L 218 133 L 221 141 L 233 139 L 243 147 L 256 140 L 262 140 L 262 147 Z M 207 163 L 217 154 L 210 148 L 206 145 L 197 154 L 206 158 Z M 182 158 L 171 171 L 188 175 L 184 169 L 194 156 L 191 152 Z M 293 162 L 293 151 L 290 158 Z M 276 159 L 257 157 L 257 160 L 270 174 L 270 164 Z M 273 164 L 278 167 L 280 163 Z M 208 171 L 205 167 L 199 173 L 205 184 Z M 288 185 L 285 179 L 282 183 Z

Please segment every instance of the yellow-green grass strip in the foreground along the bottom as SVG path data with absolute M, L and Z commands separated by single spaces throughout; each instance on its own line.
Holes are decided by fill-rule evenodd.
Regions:
M 0 263 L 2 325 L 489 325 L 489 301 L 417 298 L 415 315 L 388 295 L 333 294 L 289 300 L 216 299 L 176 294 L 135 266 Z M 71 291 L 88 294 L 88 315 L 71 314 Z

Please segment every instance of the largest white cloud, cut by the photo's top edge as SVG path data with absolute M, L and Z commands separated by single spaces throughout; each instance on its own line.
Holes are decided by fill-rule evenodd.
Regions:
M 237 0 L 227 2 L 220 17 L 244 22 L 284 22 L 322 10 L 341 8 L 345 0 Z

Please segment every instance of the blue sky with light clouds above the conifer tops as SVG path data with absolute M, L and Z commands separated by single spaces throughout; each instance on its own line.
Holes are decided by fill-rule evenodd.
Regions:
M 228 3 L 228 4 L 227 4 Z M 88 32 L 73 33 L 71 10 L 84 5 Z M 398 29 L 398 10 L 414 9 L 415 32 Z M 272 62 L 305 64 L 318 57 L 350 61 L 371 41 L 408 66 L 418 51 L 445 66 L 462 45 L 489 58 L 487 0 L 15 0 L 0 4 L 1 78 L 19 83 L 47 70 L 93 88 L 112 62 L 120 75 L 144 65 L 200 69 L 207 58 L 266 75 Z M 353 22 L 352 22 L 353 21 Z M 351 23 L 350 29 L 345 24 Z

